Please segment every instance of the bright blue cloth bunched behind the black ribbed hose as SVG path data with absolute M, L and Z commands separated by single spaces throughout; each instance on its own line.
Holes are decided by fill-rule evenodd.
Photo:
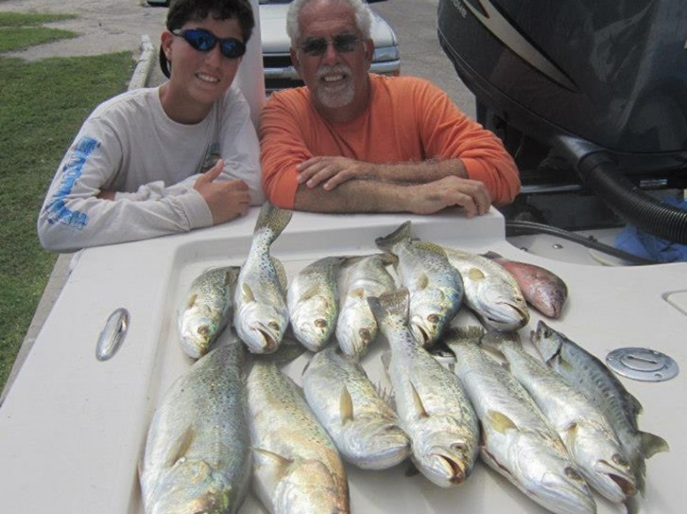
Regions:
M 682 201 L 665 199 L 664 203 L 687 210 L 687 199 Z M 646 234 L 633 225 L 627 225 L 616 236 L 616 248 L 656 262 L 687 261 L 687 245 L 671 243 L 671 241 Z

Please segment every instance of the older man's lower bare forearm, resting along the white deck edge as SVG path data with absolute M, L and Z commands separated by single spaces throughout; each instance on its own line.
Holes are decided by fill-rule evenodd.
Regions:
M 333 190 L 299 186 L 294 208 L 310 212 L 403 212 L 407 186 L 376 180 L 350 180 Z

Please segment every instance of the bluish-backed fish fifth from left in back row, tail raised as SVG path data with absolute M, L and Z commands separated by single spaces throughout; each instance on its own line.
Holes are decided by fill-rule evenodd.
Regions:
M 410 294 L 409 326 L 416 339 L 430 348 L 460 309 L 463 284 L 458 271 L 438 245 L 412 241 L 410 221 L 376 243 L 398 256 L 396 272 Z

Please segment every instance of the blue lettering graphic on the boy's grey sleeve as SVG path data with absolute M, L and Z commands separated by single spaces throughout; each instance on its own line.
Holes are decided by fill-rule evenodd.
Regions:
M 91 153 L 100 146 L 100 142 L 91 137 L 82 137 L 76 142 L 74 151 L 69 160 L 62 168 L 62 181 L 60 187 L 53 194 L 50 203 L 45 210 L 47 211 L 48 223 L 63 223 L 77 230 L 82 230 L 88 223 L 88 216 L 85 212 L 71 210 L 65 204 L 65 197 L 71 193 L 74 183 L 81 176 L 84 164 L 91 156 Z

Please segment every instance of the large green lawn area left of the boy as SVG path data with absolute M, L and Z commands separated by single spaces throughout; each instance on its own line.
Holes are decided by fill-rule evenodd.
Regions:
M 57 258 L 36 235 L 47 187 L 83 120 L 126 89 L 134 65 L 129 52 L 30 63 L 0 56 L 0 389 Z

